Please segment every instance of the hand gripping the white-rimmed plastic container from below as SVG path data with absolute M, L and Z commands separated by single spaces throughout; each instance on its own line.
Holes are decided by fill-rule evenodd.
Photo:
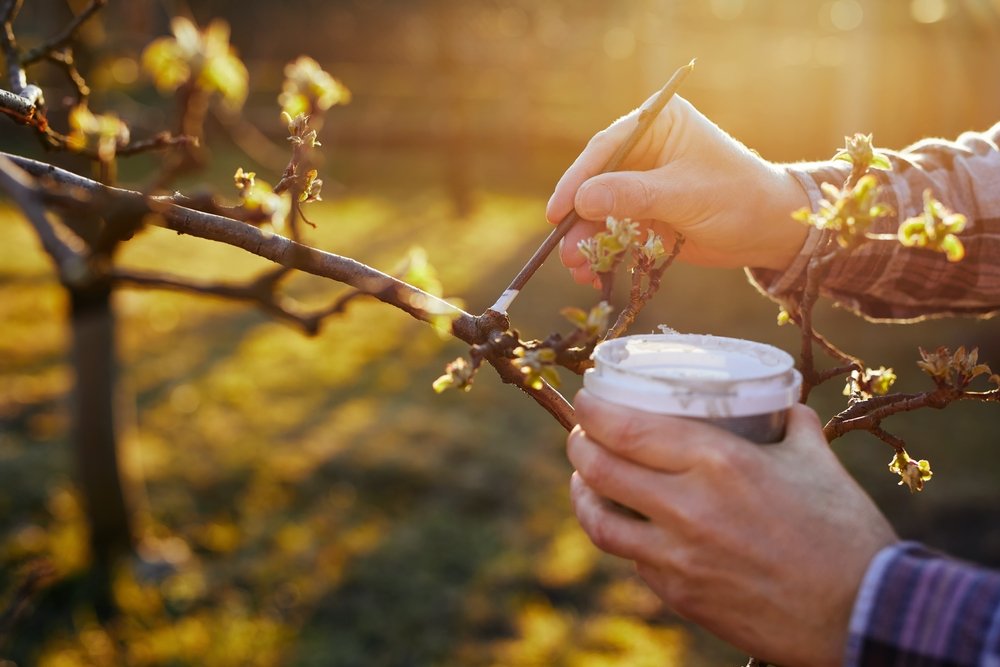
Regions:
M 897 538 L 815 412 L 796 405 L 783 442 L 754 445 L 586 390 L 575 406 L 573 506 L 595 545 L 635 561 L 674 611 L 757 658 L 842 663 L 864 573 Z

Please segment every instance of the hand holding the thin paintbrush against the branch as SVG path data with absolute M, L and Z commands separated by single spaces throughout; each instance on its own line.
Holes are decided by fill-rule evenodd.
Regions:
M 577 244 L 602 229 L 609 215 L 651 224 L 665 239 L 681 232 L 687 240 L 680 258 L 695 264 L 786 268 L 807 232 L 791 219 L 809 205 L 805 191 L 786 169 L 733 139 L 687 100 L 667 104 L 622 171 L 600 174 L 639 112 L 598 132 L 549 199 L 551 222 L 574 207 L 584 218 L 560 251 L 575 280 L 595 281 Z

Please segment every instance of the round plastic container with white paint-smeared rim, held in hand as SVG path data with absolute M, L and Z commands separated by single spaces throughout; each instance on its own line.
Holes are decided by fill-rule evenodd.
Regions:
M 802 376 L 784 350 L 700 334 L 625 336 L 599 344 L 583 386 L 611 403 L 715 424 L 757 443 L 784 437 Z

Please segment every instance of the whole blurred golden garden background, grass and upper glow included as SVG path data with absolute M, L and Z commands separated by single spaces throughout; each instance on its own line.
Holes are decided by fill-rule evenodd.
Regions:
M 26 3 L 26 46 L 86 3 Z M 823 159 L 855 131 L 899 148 L 1000 119 L 996 0 L 169 0 L 112 2 L 78 49 L 91 108 L 134 137 L 171 126 L 136 58 L 169 17 L 223 18 L 250 72 L 241 114 L 209 119 L 212 162 L 185 191 L 232 193 L 243 166 L 277 180 L 286 63 L 316 58 L 352 91 L 321 134 L 313 245 L 391 270 L 422 246 L 447 295 L 490 305 L 547 233 L 544 205 L 587 139 L 698 58 L 682 95 L 769 159 Z M 64 122 L 62 74 L 29 72 Z M 0 147 L 76 169 L 0 123 Z M 151 157 L 123 163 L 141 182 Z M 86 172 L 83 172 L 86 173 Z M 661 608 L 572 518 L 564 433 L 483 372 L 431 382 L 464 349 L 358 302 L 314 338 L 239 304 L 121 290 L 123 460 L 138 557 L 102 621 L 68 433 L 66 297 L 30 228 L 0 202 L 0 591 L 17 665 L 721 665 L 745 657 Z M 127 266 L 199 279 L 267 268 L 150 229 Z M 525 335 L 567 328 L 590 290 L 551 262 L 512 310 Z M 336 285 L 297 278 L 321 305 Z M 634 331 L 668 324 L 795 351 L 795 331 L 739 272 L 674 267 Z M 917 347 L 979 347 L 995 321 L 875 325 L 824 306 L 819 327 L 897 388 L 928 386 Z M 565 377 L 572 394 L 578 380 Z M 843 405 L 841 386 L 812 401 Z M 886 423 L 935 477 L 911 496 L 873 437 L 834 447 L 903 537 L 1000 567 L 1000 411 L 956 405 Z M 986 464 L 984 464 L 986 462 Z M 46 564 L 41 592 L 18 586 Z

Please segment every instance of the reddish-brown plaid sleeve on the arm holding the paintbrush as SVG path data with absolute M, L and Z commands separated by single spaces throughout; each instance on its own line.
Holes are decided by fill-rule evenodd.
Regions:
M 894 215 L 872 230 L 895 234 L 899 223 L 923 211 L 923 192 L 969 221 L 960 235 L 966 256 L 948 262 L 938 252 L 898 243 L 867 243 L 835 261 L 822 293 L 871 320 L 906 321 L 950 315 L 987 316 L 1000 310 L 1000 123 L 986 132 L 968 132 L 955 141 L 931 139 L 887 152 L 891 171 L 873 170 L 883 186 L 881 199 Z M 813 210 L 819 185 L 841 186 L 844 162 L 790 165 L 809 195 Z M 810 230 L 799 256 L 783 272 L 749 269 L 758 289 L 781 300 L 803 289 L 806 267 L 820 240 Z

